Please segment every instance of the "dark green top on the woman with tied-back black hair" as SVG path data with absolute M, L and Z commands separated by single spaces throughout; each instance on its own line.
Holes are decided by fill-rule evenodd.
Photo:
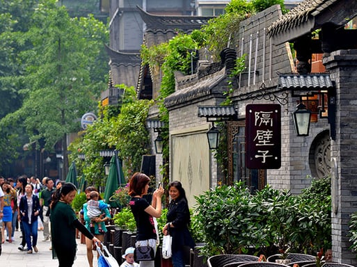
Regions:
M 61 246 L 65 250 L 77 247 L 76 227 L 74 220 L 77 220 L 76 213 L 72 207 L 64 202 L 57 202 L 54 209 L 51 209 L 51 238 L 55 248 Z

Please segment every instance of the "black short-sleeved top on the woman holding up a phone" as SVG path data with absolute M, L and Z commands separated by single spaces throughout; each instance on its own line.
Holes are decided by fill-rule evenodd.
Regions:
M 149 202 L 141 197 L 132 197 L 129 206 L 136 221 L 136 240 L 156 239 L 154 219 L 145 211 L 150 206 Z

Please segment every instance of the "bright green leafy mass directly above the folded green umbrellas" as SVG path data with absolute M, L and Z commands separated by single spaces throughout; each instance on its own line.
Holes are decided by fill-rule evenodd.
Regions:
M 136 99 L 133 87 L 119 87 L 125 89 L 122 104 L 102 108 L 102 118 L 83 131 L 81 138 L 69 147 L 70 159 L 76 161 L 78 169 L 83 170 L 86 181 L 96 186 L 103 186 L 106 182 L 104 161 L 98 153 L 100 150 L 117 149 L 127 177 L 140 170 L 142 155 L 150 152 L 146 119 L 152 102 Z M 120 110 L 120 113 L 113 116 L 113 108 Z M 85 156 L 84 161 L 79 159 L 79 154 Z

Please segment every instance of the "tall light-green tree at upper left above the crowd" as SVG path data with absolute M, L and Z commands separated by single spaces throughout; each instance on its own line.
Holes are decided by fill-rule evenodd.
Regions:
M 108 32 L 93 16 L 70 18 L 54 0 L 37 2 L 28 29 L 12 36 L 21 48 L 14 60 L 23 70 L 11 78 L 24 101 L 1 123 L 21 122 L 49 151 L 62 141 L 66 165 L 66 134 L 79 129 L 79 118 L 95 109 L 106 88 Z

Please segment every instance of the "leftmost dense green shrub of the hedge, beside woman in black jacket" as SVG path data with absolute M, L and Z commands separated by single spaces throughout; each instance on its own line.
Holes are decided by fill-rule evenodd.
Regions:
M 203 227 L 207 254 L 239 254 L 251 245 L 256 226 L 247 216 L 253 211 L 249 197 L 242 183 L 218 186 L 196 197 L 196 217 Z

